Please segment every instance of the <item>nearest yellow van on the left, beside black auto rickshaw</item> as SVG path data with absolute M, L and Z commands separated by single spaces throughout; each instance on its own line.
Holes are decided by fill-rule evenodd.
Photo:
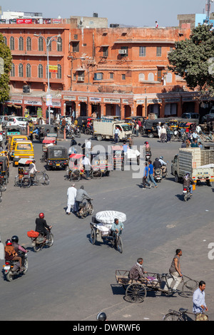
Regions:
M 31 140 L 16 140 L 13 150 L 14 166 L 19 165 L 21 158 L 34 160 L 34 146 Z

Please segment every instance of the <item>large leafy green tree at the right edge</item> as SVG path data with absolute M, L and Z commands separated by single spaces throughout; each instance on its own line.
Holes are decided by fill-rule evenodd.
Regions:
M 192 90 L 214 94 L 214 33 L 211 26 L 198 26 L 190 38 L 175 43 L 168 54 L 168 69 L 185 79 Z

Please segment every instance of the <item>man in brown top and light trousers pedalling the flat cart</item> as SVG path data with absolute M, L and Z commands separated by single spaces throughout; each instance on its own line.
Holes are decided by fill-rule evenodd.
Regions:
M 175 281 L 175 284 L 173 286 L 173 292 L 177 292 L 177 287 L 180 284 L 181 280 L 183 279 L 183 274 L 180 270 L 180 257 L 182 256 L 182 250 L 176 249 L 175 256 L 173 257 L 173 261 L 170 265 L 170 275 L 171 277 L 167 279 L 168 287 Z M 168 288 L 165 286 L 165 290 L 168 290 Z

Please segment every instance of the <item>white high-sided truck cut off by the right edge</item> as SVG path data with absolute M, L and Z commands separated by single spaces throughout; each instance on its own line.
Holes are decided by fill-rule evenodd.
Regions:
M 208 186 L 214 181 L 214 150 L 200 148 L 182 148 L 172 160 L 171 173 L 175 182 L 183 180 L 190 173 L 190 177 L 200 184 L 206 182 Z

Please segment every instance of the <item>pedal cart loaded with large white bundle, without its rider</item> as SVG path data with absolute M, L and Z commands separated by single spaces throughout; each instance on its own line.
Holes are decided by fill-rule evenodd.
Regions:
M 126 221 L 126 214 L 122 212 L 117 212 L 115 210 L 105 210 L 96 213 L 92 217 L 91 227 L 91 243 L 106 243 L 111 244 L 111 247 L 115 247 L 118 252 L 123 252 L 123 242 L 121 239 L 121 234 L 112 234 L 111 226 L 115 219 L 119 222 Z

